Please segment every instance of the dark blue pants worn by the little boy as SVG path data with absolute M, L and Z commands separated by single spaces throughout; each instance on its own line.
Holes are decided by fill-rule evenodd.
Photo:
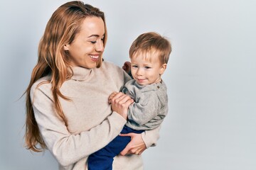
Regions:
M 121 133 L 127 134 L 129 132 L 142 133 L 144 130 L 133 130 L 124 126 Z M 112 170 L 112 163 L 114 157 L 117 156 L 131 141 L 131 137 L 117 136 L 107 146 L 90 154 L 88 158 L 89 170 Z

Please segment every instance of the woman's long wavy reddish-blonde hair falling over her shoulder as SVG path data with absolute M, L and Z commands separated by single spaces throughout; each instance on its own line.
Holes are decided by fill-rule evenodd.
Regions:
M 60 6 L 51 16 L 47 23 L 45 33 L 38 45 L 38 62 L 33 68 L 31 81 L 26 89 L 26 148 L 34 152 L 41 152 L 46 149 L 46 144 L 39 132 L 33 112 L 32 101 L 30 96 L 31 86 L 41 77 L 51 74 L 50 81 L 43 83 L 51 83 L 53 92 L 53 100 L 55 109 L 63 118 L 65 125 L 68 122 L 63 114 L 58 96 L 68 100 L 66 96 L 60 93 L 60 86 L 67 79 L 72 77 L 70 72 L 71 62 L 68 52 L 65 52 L 64 45 L 71 44 L 80 31 L 82 21 L 87 16 L 96 16 L 102 18 L 105 23 L 105 15 L 102 11 L 82 1 L 70 1 Z M 103 45 L 105 47 L 107 41 L 107 28 L 105 24 L 105 37 Z M 97 68 L 102 64 L 102 56 L 97 62 Z M 40 85 L 40 84 L 39 84 Z M 38 86 L 39 86 L 38 85 Z M 40 147 L 37 147 L 40 145 Z

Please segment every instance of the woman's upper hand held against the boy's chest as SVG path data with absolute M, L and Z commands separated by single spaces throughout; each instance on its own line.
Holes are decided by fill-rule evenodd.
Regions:
M 119 113 L 119 115 L 122 115 L 126 120 L 128 107 L 133 102 L 134 100 L 130 96 L 123 94 L 122 92 L 113 92 L 109 97 L 109 103 L 111 103 L 112 111 Z

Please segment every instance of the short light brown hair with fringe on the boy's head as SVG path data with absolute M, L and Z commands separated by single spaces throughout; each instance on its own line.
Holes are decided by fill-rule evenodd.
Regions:
M 161 64 L 167 64 L 171 54 L 171 42 L 159 33 L 143 33 L 132 42 L 129 49 L 130 58 L 139 54 L 143 54 L 146 60 L 151 60 L 151 56 L 156 54 Z

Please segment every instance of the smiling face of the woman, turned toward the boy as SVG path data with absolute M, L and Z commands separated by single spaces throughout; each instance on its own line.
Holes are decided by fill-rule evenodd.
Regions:
M 92 69 L 97 66 L 104 52 L 105 25 L 100 17 L 91 16 L 82 21 L 80 32 L 71 44 L 65 45 L 73 66 Z

